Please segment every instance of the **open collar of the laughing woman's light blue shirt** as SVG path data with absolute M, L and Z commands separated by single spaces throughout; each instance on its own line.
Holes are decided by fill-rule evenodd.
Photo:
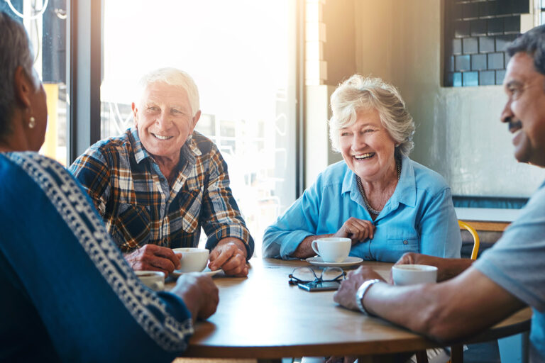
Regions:
M 350 169 L 344 174 L 342 193 L 351 193 L 351 196 L 359 194 L 356 174 Z M 390 204 L 390 208 L 395 209 L 400 203 L 409 207 L 417 205 L 417 183 L 414 178 L 414 168 L 411 160 L 406 156 L 401 158 L 400 181 L 395 187 L 394 194 L 390 197 L 390 203 L 387 204 Z

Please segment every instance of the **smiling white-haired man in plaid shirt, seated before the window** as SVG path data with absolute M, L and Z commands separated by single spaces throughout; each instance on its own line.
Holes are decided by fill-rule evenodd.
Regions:
M 133 269 L 169 274 L 172 248 L 207 234 L 210 269 L 246 276 L 253 239 L 216 145 L 194 131 L 199 93 L 189 74 L 163 68 L 141 79 L 135 126 L 89 147 L 70 167 Z

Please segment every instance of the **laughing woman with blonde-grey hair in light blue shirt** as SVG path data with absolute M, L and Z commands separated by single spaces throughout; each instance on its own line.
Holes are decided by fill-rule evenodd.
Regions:
M 331 143 L 343 160 L 265 230 L 264 257 L 314 256 L 317 238 L 351 238 L 350 255 L 395 262 L 405 252 L 460 257 L 451 191 L 409 159 L 414 122 L 397 89 L 353 75 L 331 95 Z

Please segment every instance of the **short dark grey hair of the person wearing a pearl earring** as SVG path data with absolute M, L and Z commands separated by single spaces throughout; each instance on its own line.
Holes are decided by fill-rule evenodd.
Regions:
M 11 134 L 11 117 L 16 107 L 15 70 L 21 66 L 35 88 L 40 80 L 33 72 L 33 51 L 21 23 L 0 11 L 0 140 Z

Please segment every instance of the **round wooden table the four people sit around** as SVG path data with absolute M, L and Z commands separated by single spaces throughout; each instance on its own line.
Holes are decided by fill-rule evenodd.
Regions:
M 363 262 L 387 277 L 392 264 Z M 258 358 L 376 355 L 438 347 L 380 318 L 341 308 L 333 291 L 290 286 L 287 275 L 304 261 L 253 259 L 248 278 L 214 277 L 218 310 L 197 323 L 186 357 Z M 172 287 L 167 284 L 167 289 Z M 529 330 L 525 309 L 464 342 L 483 342 Z

